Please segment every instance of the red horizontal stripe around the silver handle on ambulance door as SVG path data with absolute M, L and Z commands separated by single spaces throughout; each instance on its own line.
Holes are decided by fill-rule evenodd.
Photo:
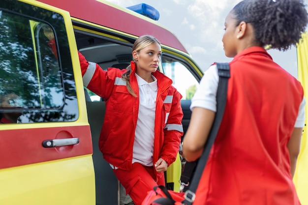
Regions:
M 89 125 L 2 130 L 0 169 L 92 154 L 92 140 L 89 133 Z M 50 148 L 42 145 L 46 140 L 73 137 L 79 138 L 78 144 Z

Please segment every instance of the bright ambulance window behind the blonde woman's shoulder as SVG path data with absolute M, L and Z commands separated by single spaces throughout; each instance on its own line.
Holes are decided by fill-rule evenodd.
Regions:
M 188 66 L 179 59 L 162 55 L 163 72 L 171 78 L 173 86 L 183 95 L 182 99 L 191 99 L 199 85 L 189 71 Z

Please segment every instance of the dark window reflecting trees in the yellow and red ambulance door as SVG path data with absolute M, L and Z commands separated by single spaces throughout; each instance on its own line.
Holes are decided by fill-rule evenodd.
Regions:
M 75 120 L 78 111 L 71 116 L 64 111 L 69 100 L 63 75 L 74 82 L 72 70 L 62 72 L 53 26 L 0 10 L 0 28 L 0 118 L 18 116 L 18 123 Z M 56 37 L 54 48 L 46 31 Z M 73 98 L 77 101 L 76 93 Z

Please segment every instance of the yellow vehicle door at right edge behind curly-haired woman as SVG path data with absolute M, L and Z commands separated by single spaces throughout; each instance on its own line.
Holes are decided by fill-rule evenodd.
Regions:
M 308 34 L 303 34 L 303 41 L 297 46 L 298 80 L 304 88 L 305 98 L 308 101 Z M 306 121 L 301 142 L 301 152 L 298 156 L 293 181 L 302 205 L 308 205 L 308 107 L 306 104 Z

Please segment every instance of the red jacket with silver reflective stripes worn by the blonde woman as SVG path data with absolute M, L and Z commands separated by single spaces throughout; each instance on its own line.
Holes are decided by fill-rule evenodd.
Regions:
M 135 63 L 131 61 L 130 84 L 138 97 L 133 97 L 128 92 L 126 83 L 121 79 L 126 69 L 108 68 L 104 71 L 98 64 L 88 62 L 81 53 L 79 59 L 84 85 L 106 101 L 106 113 L 99 139 L 103 157 L 120 169 L 130 170 L 139 110 Z M 182 95 L 172 86 L 172 80 L 164 74 L 158 70 L 152 74 L 157 79 L 158 86 L 153 161 L 155 163 L 161 157 L 169 166 L 176 159 L 183 135 L 183 111 L 180 101 Z

